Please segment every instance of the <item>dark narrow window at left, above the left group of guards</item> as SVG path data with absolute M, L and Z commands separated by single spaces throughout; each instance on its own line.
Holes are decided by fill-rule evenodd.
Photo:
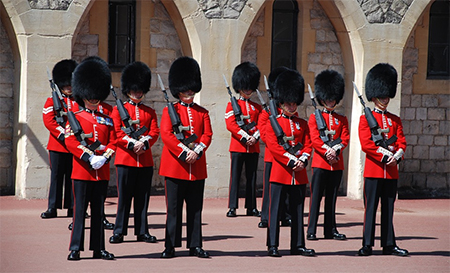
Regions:
M 136 2 L 109 0 L 108 61 L 121 71 L 135 57 Z

